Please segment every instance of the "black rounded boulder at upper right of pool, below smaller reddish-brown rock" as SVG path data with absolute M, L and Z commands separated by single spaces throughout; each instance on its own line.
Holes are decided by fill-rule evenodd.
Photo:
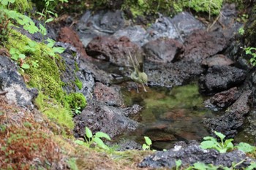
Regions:
M 212 66 L 206 75 L 200 77 L 200 90 L 203 93 L 216 93 L 241 84 L 245 78 L 246 72 L 236 67 Z

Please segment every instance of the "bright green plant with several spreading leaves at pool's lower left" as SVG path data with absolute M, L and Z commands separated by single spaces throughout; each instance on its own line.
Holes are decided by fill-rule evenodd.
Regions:
M 101 139 L 101 138 L 105 138 L 105 139 L 111 140 L 110 136 L 108 136 L 108 134 L 105 134 L 105 133 L 99 131 L 93 135 L 91 130 L 88 127 L 86 127 L 85 130 L 86 130 L 86 136 L 85 136 L 86 142 L 76 140 L 75 143 L 77 143 L 77 144 L 86 143 L 89 146 L 91 146 L 91 144 L 97 144 L 98 147 L 101 147 L 104 150 L 110 150 L 110 148 Z

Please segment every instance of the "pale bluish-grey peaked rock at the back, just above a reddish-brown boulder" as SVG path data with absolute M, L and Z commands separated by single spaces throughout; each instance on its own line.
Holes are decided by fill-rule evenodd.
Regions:
M 178 31 L 176 30 L 170 18 L 159 16 L 156 23 L 153 23 L 148 29 L 148 41 L 167 37 L 170 39 L 178 38 Z

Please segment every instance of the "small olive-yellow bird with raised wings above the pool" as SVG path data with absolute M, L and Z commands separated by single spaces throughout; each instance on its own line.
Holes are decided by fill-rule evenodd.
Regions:
M 148 75 L 145 73 L 145 72 L 140 72 L 140 70 L 138 69 L 138 67 L 140 66 L 140 64 L 138 63 L 138 60 L 137 58 L 135 57 L 135 61 L 136 61 L 136 65 L 135 65 L 135 62 L 133 61 L 132 59 L 132 55 L 131 53 L 129 52 L 129 58 L 131 59 L 132 61 L 132 65 L 135 69 L 134 72 L 132 72 L 132 74 L 130 75 L 131 79 L 135 82 L 138 82 L 140 83 L 143 88 L 144 88 L 144 91 L 147 92 L 144 84 L 147 85 L 148 83 Z M 138 90 L 138 86 L 136 85 L 136 88 L 137 88 L 137 92 L 139 93 L 139 90 Z

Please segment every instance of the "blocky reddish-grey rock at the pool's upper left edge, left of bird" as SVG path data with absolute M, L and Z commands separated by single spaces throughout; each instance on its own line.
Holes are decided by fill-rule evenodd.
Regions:
M 121 89 L 117 85 L 108 87 L 101 82 L 96 82 L 94 96 L 97 101 L 113 107 L 124 107 L 124 99 L 121 96 Z

